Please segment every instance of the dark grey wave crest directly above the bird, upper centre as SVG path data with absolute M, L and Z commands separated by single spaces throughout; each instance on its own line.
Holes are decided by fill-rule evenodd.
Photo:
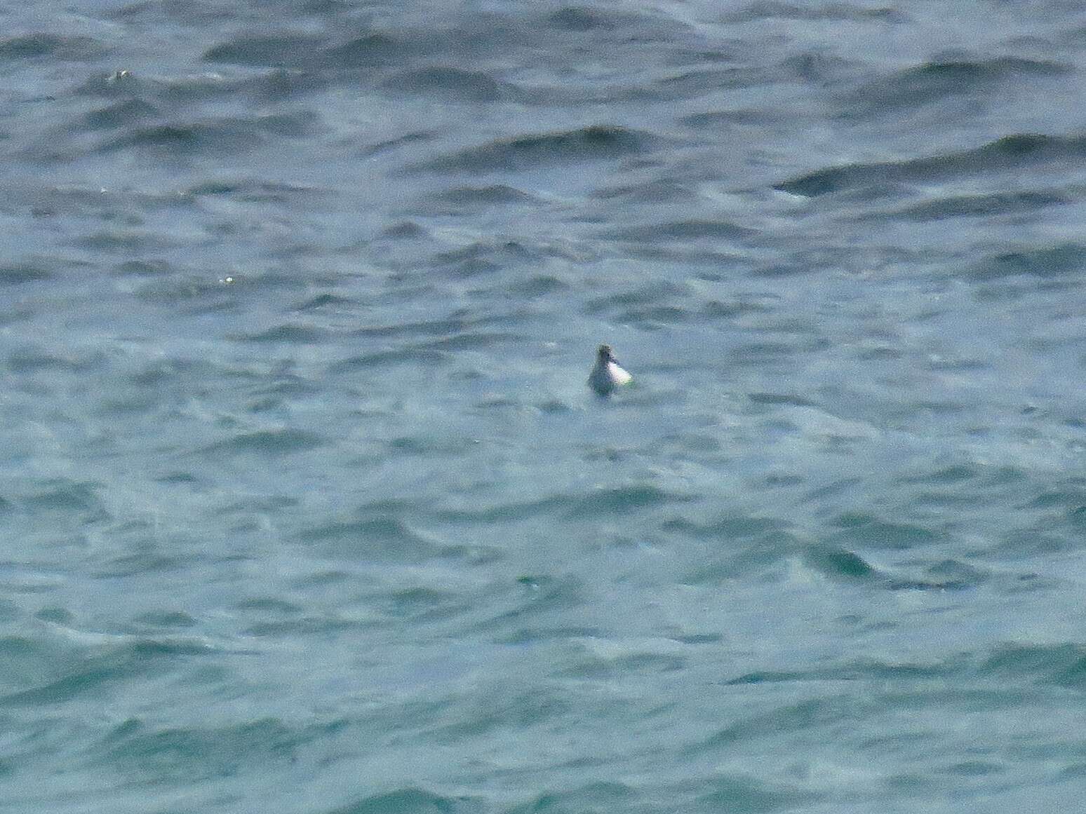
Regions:
M 493 173 L 554 164 L 609 161 L 644 152 L 656 141 L 640 130 L 593 125 L 577 130 L 520 136 L 408 166 L 437 173 Z

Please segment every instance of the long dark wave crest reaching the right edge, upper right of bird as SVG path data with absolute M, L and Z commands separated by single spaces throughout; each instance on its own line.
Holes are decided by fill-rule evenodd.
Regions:
M 901 162 L 846 164 L 820 169 L 773 189 L 806 198 L 894 182 L 919 182 L 990 174 L 1053 163 L 1081 163 L 1086 157 L 1086 137 L 1022 133 L 1005 136 L 973 150 L 911 158 Z

